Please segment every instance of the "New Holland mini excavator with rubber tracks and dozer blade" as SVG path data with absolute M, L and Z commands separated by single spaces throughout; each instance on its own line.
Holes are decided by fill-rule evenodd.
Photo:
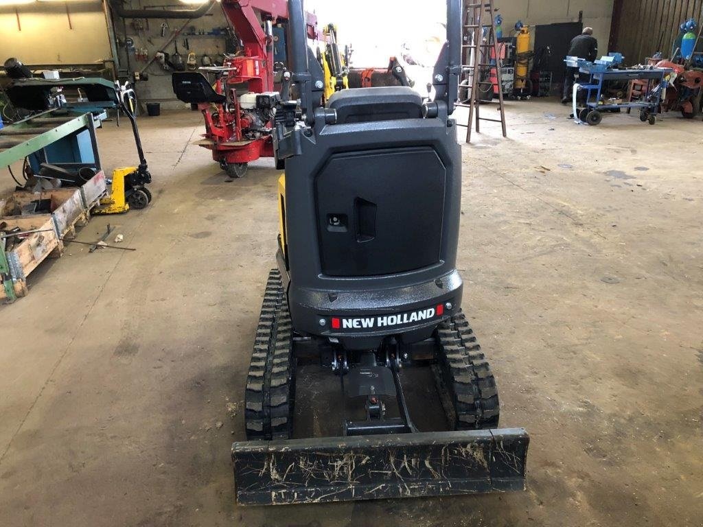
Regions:
M 247 374 L 247 441 L 231 450 L 236 499 L 523 490 L 529 436 L 498 428 L 496 382 L 456 269 L 461 1 L 447 1 L 424 103 L 407 86 L 323 103 L 301 0 L 288 16 L 296 99 L 281 93 L 273 109 L 285 164 L 278 266 Z

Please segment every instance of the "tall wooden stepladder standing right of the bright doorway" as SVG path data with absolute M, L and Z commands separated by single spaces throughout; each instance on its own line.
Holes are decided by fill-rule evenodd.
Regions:
M 460 89 L 468 89 L 471 86 L 471 93 L 467 93 L 468 103 L 457 103 L 457 106 L 469 108 L 469 121 L 467 124 L 458 126 L 466 127 L 466 142 L 471 142 L 472 123 L 476 122 L 476 131 L 479 132 L 480 121 L 499 122 L 503 127 L 503 137 L 508 136 L 505 126 L 505 110 L 503 107 L 503 79 L 501 77 L 501 58 L 498 55 L 498 41 L 496 41 L 496 20 L 494 18 L 493 0 L 483 0 L 475 3 L 476 0 L 466 0 L 464 4 L 464 20 L 462 29 L 461 45 L 461 77 Z M 488 15 L 490 23 L 484 23 L 484 15 Z M 488 22 L 488 20 L 486 20 Z M 486 34 L 484 36 L 484 30 Z M 494 62 L 491 64 L 491 50 L 494 53 Z M 494 83 L 491 82 L 491 70 L 496 70 L 496 82 L 498 84 L 498 104 L 501 112 L 500 119 L 481 117 L 479 108 L 481 101 L 475 94 L 479 89 L 489 86 L 493 91 Z M 481 79 L 482 73 L 488 72 L 488 79 Z M 474 119 L 476 114 L 476 119 Z

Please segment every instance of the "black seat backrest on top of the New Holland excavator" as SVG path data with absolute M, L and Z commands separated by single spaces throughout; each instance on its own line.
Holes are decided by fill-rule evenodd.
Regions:
M 408 86 L 378 86 L 337 91 L 327 108 L 337 110 L 337 123 L 420 119 L 423 100 Z

